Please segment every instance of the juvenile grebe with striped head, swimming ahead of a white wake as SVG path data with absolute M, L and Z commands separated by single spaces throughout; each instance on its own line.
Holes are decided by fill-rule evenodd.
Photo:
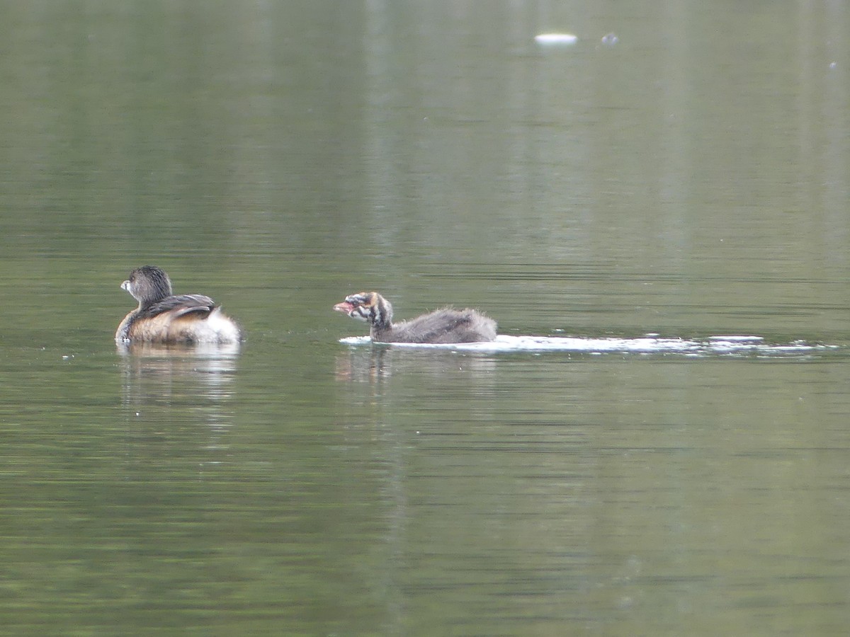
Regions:
M 496 321 L 475 310 L 444 307 L 403 323 L 393 323 L 393 306 L 377 292 L 358 292 L 333 306 L 370 325 L 379 343 L 474 343 L 496 339 Z

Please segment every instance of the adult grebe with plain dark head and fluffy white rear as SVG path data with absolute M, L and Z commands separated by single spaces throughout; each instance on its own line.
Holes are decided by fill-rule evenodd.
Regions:
M 239 328 L 209 296 L 174 296 L 171 279 L 161 268 L 136 268 L 121 287 L 133 295 L 139 307 L 118 325 L 117 342 L 235 343 L 240 340 Z

